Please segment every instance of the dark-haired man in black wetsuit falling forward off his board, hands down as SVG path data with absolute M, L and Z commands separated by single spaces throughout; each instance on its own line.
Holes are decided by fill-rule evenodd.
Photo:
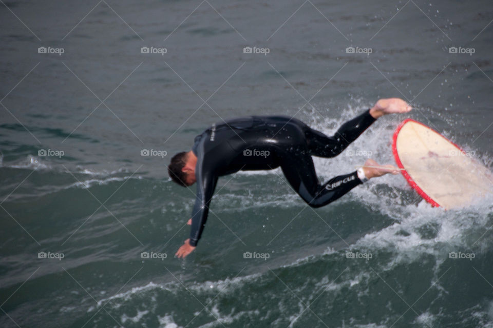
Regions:
M 318 183 L 311 156 L 337 156 L 378 117 L 407 113 L 411 107 L 402 99 L 380 99 L 370 110 L 347 121 L 333 136 L 311 129 L 303 122 L 285 116 L 251 116 L 213 125 L 195 138 L 191 151 L 173 156 L 168 173 L 183 187 L 197 182 L 197 199 L 188 220 L 190 238 L 177 251 L 185 257 L 197 246 L 218 177 L 240 170 L 272 170 L 280 167 L 286 179 L 309 206 L 324 206 L 366 180 L 397 168 L 378 166 L 368 159 L 357 171 Z

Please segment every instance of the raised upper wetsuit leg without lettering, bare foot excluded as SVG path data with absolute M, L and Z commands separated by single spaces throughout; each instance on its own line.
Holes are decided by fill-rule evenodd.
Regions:
M 314 156 L 334 157 L 345 150 L 351 142 L 356 140 L 375 119 L 367 110 L 363 114 L 345 122 L 337 132 L 329 137 L 324 133 L 305 127 L 308 148 Z

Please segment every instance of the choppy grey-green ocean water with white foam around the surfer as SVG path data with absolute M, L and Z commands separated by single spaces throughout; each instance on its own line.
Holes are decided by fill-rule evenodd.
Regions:
M 311 209 L 279 170 L 240 172 L 177 259 L 195 189 L 165 168 L 213 122 L 331 134 L 401 97 L 409 115 L 314 159 L 321 180 L 394 163 L 406 117 L 491 170 L 492 19 L 488 1 L 2 2 L 0 326 L 493 327 L 492 197 L 444 211 L 385 176 Z

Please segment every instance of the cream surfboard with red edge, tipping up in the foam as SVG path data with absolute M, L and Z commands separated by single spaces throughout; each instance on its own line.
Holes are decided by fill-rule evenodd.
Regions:
M 409 185 L 433 207 L 458 209 L 493 193 L 493 174 L 443 135 L 404 120 L 392 140 L 392 153 Z

